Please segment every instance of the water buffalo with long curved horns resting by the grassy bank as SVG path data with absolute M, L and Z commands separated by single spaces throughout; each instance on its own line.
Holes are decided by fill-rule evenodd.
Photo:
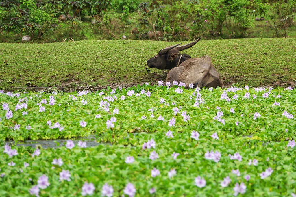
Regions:
M 179 46 L 181 43 L 166 47 L 158 52 L 158 55 L 147 60 L 147 66 L 150 68 L 169 69 L 166 82 L 173 81 L 186 83 L 186 88 L 190 83 L 193 87 L 222 87 L 219 73 L 213 67 L 209 56 L 200 58 L 191 58 L 187 54 L 180 54 L 183 51 L 195 45 L 200 38 L 189 44 Z

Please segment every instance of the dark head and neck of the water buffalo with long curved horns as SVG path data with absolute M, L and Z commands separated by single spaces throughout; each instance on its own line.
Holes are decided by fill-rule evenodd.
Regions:
M 179 46 L 181 44 L 179 43 L 179 44 L 161 49 L 156 56 L 147 60 L 147 66 L 150 68 L 158 68 L 158 69 L 172 69 L 178 66 L 178 63 L 180 64 L 186 59 L 191 58 L 187 54 L 180 54 L 179 51 L 183 51 L 185 49 L 188 49 L 189 47 L 192 47 L 198 41 L 200 41 L 200 38 L 198 38 L 196 41 L 193 41 L 189 44 L 185 44 L 182 46 Z M 180 57 L 182 58 L 181 62 L 180 62 L 181 60 Z

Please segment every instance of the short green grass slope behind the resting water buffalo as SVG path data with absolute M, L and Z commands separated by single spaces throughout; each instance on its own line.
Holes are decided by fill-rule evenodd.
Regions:
M 0 43 L 0 89 L 28 86 L 133 85 L 165 80 L 146 60 L 177 42 L 92 40 L 48 44 Z M 295 85 L 296 38 L 200 41 L 185 51 L 209 55 L 224 85 Z

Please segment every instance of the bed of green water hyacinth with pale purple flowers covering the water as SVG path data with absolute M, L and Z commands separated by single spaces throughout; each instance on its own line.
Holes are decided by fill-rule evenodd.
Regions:
M 295 89 L 0 92 L 0 196 L 296 193 Z M 72 139 L 89 135 L 100 144 Z M 67 141 L 9 141 L 29 139 Z

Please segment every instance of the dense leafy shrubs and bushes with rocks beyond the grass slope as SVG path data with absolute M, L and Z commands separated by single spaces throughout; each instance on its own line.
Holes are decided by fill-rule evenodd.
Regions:
M 295 8 L 296 0 L 4 0 L 0 41 L 295 37 Z

